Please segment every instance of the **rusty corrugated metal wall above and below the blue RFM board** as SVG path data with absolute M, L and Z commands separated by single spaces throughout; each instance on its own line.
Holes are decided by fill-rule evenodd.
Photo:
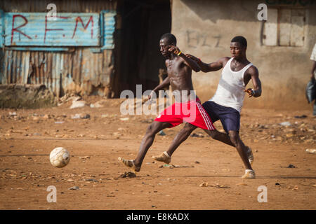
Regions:
M 116 10 L 117 1 L 1 1 L 8 12 L 48 12 L 55 3 L 57 13 L 100 13 Z M 2 84 L 45 84 L 56 96 L 66 92 L 111 95 L 114 76 L 113 50 L 91 52 L 90 48 L 71 48 L 67 52 L 4 50 L 0 59 Z

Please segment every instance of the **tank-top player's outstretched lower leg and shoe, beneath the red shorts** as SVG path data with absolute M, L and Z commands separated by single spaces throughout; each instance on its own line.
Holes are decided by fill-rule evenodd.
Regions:
M 171 162 L 171 155 L 174 151 L 180 146 L 180 144 L 183 143 L 187 139 L 187 137 L 190 136 L 190 134 L 196 129 L 197 127 L 195 125 L 191 125 L 190 123 L 186 123 L 185 127 L 183 127 L 180 132 L 176 135 L 176 137 L 173 139 L 171 145 L 169 146 L 168 151 L 165 151 L 161 155 L 152 156 L 154 160 L 157 160 L 159 162 L 164 162 L 166 164 L 169 164 Z

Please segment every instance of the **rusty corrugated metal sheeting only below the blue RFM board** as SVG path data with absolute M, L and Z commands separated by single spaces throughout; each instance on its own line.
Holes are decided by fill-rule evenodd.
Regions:
M 93 94 L 110 85 L 114 73 L 112 50 L 93 53 L 5 50 L 2 84 L 44 84 L 57 97 L 67 92 Z M 103 92 L 99 91 L 102 95 Z

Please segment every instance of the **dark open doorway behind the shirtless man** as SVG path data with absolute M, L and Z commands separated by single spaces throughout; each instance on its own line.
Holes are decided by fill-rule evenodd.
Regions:
M 141 84 L 143 92 L 159 84 L 159 69 L 165 69 L 159 52 L 159 39 L 171 31 L 169 0 L 122 0 L 118 5 L 121 17 L 119 45 L 116 45 L 117 97 L 122 90 Z

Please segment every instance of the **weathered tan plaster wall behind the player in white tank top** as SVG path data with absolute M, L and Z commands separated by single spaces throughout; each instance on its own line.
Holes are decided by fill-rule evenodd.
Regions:
M 310 78 L 310 54 L 316 42 L 315 1 L 291 1 L 279 6 L 279 1 L 172 1 L 172 33 L 178 47 L 185 53 L 214 62 L 230 56 L 230 40 L 242 35 L 248 41 L 247 57 L 259 70 L 263 95 L 245 99 L 244 106 L 271 109 L 311 109 L 305 99 L 305 86 Z M 294 2 L 294 1 L 293 1 Z M 305 11 L 304 40 L 301 47 L 261 45 L 261 27 L 257 9 L 259 3 L 269 9 L 298 8 Z M 289 4 L 290 3 L 290 4 Z M 197 94 L 202 100 L 213 96 L 220 71 L 193 73 Z M 251 83 L 248 85 L 251 87 Z

